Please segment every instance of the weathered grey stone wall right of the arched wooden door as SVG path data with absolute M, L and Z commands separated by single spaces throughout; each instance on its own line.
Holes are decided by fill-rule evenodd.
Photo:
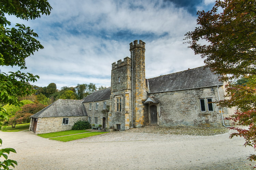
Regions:
M 213 103 L 214 111 L 201 111 L 200 100 L 212 98 L 218 101 L 218 92 L 223 99 L 224 88 L 199 88 L 150 94 L 159 101 L 160 126 L 220 126 L 221 110 Z M 207 103 L 205 103 L 207 105 Z M 227 113 L 227 109 L 223 109 Z

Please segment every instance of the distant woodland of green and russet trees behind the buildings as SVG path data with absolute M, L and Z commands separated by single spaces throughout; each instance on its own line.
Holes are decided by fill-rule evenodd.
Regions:
M 95 84 L 77 84 L 76 87 L 64 86 L 60 90 L 56 88 L 55 83 L 50 83 L 47 87 L 38 87 L 32 85 L 34 94 L 18 97 L 21 105 L 3 104 L 0 105 L 8 113 L 10 119 L 0 119 L 3 124 L 12 125 L 15 128 L 16 124 L 30 122 L 30 116 L 39 112 L 41 109 L 49 104 L 52 104 L 58 99 L 83 99 L 95 90 L 103 89 L 106 87 L 96 87 Z

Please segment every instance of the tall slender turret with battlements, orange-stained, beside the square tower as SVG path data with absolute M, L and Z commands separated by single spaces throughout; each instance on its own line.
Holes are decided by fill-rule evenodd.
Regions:
M 145 43 L 142 40 L 135 40 L 130 43 L 132 60 L 132 107 L 134 127 L 141 127 L 148 124 L 147 107 L 143 102 L 147 98 L 145 82 Z

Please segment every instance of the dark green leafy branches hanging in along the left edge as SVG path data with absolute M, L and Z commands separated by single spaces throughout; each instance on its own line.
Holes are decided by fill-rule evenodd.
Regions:
M 0 65 L 18 66 L 26 69 L 25 59 L 43 46 L 34 37 L 38 37 L 29 27 L 23 24 L 16 24 L 16 28 L 8 28 L 11 22 L 5 15 L 14 15 L 21 19 L 35 19 L 41 14 L 49 15 L 52 7 L 47 0 L 26 1 L 26 0 L 1 0 L 0 1 Z M 34 93 L 32 87 L 27 82 L 35 82 L 38 75 L 16 72 L 0 72 L 0 101 L 3 104 L 21 105 L 18 96 L 29 96 Z M 0 119 L 8 119 L 5 109 L 0 106 Z M 2 144 L 2 140 L 0 140 Z M 1 169 L 9 169 L 10 166 L 17 165 L 17 162 L 8 159 L 10 152 L 14 149 L 5 148 L 0 150 L 0 156 L 5 160 L 0 162 Z

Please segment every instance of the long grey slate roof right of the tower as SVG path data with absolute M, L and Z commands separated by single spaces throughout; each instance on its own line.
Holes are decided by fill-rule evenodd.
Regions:
M 202 66 L 148 79 L 149 92 L 176 91 L 223 85 L 210 68 Z

